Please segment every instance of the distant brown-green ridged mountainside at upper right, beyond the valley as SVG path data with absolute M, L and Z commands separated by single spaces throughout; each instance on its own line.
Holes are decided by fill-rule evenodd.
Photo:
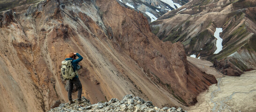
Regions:
M 161 40 L 182 42 L 187 55 L 220 63 L 225 75 L 240 75 L 241 70 L 256 69 L 256 39 L 254 0 L 192 0 L 170 11 L 151 24 Z M 222 28 L 222 50 L 214 54 L 216 28 Z M 216 63 L 216 66 L 220 65 Z M 230 72 L 229 72 L 230 71 Z

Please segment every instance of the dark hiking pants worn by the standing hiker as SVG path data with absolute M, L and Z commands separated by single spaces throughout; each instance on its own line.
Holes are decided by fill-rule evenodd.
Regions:
M 81 84 L 79 78 L 73 78 L 72 80 L 70 80 L 70 83 L 69 83 L 70 88 L 69 88 L 69 92 L 68 92 L 69 100 L 70 101 L 72 100 L 73 84 L 75 84 L 76 87 L 78 88 L 78 100 L 81 100 L 82 84 Z

